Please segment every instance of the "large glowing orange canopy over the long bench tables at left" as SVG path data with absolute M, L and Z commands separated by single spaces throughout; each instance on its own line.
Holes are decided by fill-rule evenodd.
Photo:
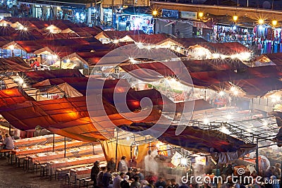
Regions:
M 133 113 L 128 113 L 131 118 L 127 120 L 123 115 L 117 113 L 114 106 L 106 101 L 104 101 L 103 106 L 99 106 L 99 104 L 95 105 L 97 105 L 97 108 L 95 111 L 92 111 L 92 114 L 94 113 L 95 115 L 91 118 L 95 126 L 101 127 L 100 130 L 102 130 L 102 128 L 103 130 L 107 130 L 109 121 L 115 125 L 123 125 L 133 123 L 134 118 L 138 119 L 137 122 L 140 122 L 140 118 L 142 118 L 142 122 L 155 122 L 160 118 L 159 110 L 153 110 L 149 115 L 147 114 L 147 110 L 145 110 L 143 113 L 139 113 L 138 117 L 134 117 Z M 66 128 L 68 132 L 74 130 L 74 136 L 71 138 L 75 139 L 78 139 L 78 137 L 75 136 L 77 134 L 86 136 L 87 133 L 95 132 L 95 130 L 89 131 L 94 125 L 88 114 L 85 96 L 49 101 L 26 101 L 22 104 L 7 106 L 7 108 L 3 107 L 0 111 L 11 125 L 20 130 L 31 130 L 37 125 L 50 129 L 51 131 L 54 131 L 54 129 L 59 129 L 58 131 L 60 131 Z M 106 111 L 106 116 L 103 111 Z M 85 123 L 81 124 L 82 122 L 86 122 L 87 125 L 85 125 Z M 90 126 L 91 124 L 92 126 Z M 75 126 L 78 126 L 78 128 L 75 128 Z M 75 132 L 75 130 L 78 132 Z M 109 130 L 109 132 L 112 134 L 113 130 Z M 80 139 L 83 139 L 83 137 Z

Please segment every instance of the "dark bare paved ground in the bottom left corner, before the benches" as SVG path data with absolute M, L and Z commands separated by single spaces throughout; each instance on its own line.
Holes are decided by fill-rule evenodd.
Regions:
M 23 167 L 8 163 L 8 158 L 0 157 L 0 187 L 5 188 L 56 188 L 70 187 L 65 180 L 49 180 L 36 173 L 27 173 Z M 72 186 L 74 187 L 74 186 Z

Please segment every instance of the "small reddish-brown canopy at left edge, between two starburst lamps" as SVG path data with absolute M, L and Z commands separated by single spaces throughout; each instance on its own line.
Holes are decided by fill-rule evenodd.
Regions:
M 0 72 L 20 72 L 31 70 L 30 65 L 20 57 L 0 58 Z

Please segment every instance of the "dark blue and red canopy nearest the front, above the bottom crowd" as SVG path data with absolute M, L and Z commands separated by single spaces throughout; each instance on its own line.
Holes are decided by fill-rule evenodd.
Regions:
M 121 128 L 130 132 L 139 132 L 147 130 L 152 125 L 148 123 L 133 123 L 129 126 L 123 125 Z M 166 144 L 183 147 L 188 151 L 212 153 L 216 161 L 222 161 L 221 158 L 216 158 L 222 153 L 229 153 L 228 161 L 233 161 L 246 153 L 252 152 L 256 146 L 255 144 L 246 144 L 240 139 L 231 137 L 218 130 L 203 130 L 200 127 L 193 126 L 186 127 L 183 132 L 176 135 L 176 126 L 170 125 L 166 132 L 157 139 Z

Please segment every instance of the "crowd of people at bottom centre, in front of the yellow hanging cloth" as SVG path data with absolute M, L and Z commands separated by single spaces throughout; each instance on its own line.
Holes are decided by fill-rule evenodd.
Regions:
M 91 171 L 91 179 L 94 187 L 101 188 L 178 188 L 175 179 L 165 180 L 163 176 L 147 173 L 145 176 L 141 170 L 136 168 L 135 160 L 125 161 L 123 156 L 118 162 L 117 169 L 114 158 L 107 162 L 106 166 L 99 167 L 99 161 L 94 163 Z M 128 168 L 128 165 L 130 166 Z

